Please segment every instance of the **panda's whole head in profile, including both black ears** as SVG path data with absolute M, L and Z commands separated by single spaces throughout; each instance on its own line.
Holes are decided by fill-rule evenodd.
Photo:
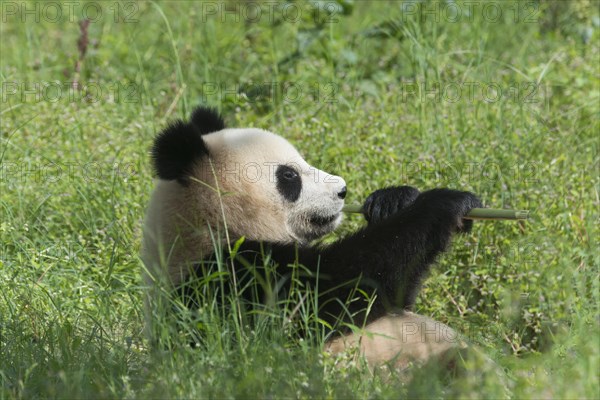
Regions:
M 261 129 L 226 129 L 198 108 L 164 129 L 152 148 L 158 178 L 186 223 L 225 224 L 250 240 L 306 243 L 335 229 L 346 183 L 310 166 L 284 138 Z M 159 182 L 160 185 L 160 182 Z M 173 215 L 177 213 L 178 215 Z

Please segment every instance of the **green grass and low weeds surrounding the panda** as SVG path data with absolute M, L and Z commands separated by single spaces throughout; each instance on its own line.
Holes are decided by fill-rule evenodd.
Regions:
M 402 3 L 343 2 L 334 21 L 300 3 L 297 21 L 250 21 L 229 2 L 236 22 L 220 2 L 92 2 L 103 16 L 77 74 L 83 2 L 75 22 L 2 2 L 1 397 L 600 397 L 598 2 L 490 1 L 467 16 L 459 1 L 458 21 L 444 14 L 453 2 L 425 2 L 421 19 Z M 103 94 L 71 99 L 76 77 Z M 290 335 L 283 311 L 250 328 L 212 310 L 201 348 L 149 350 L 148 150 L 202 103 L 288 138 L 346 179 L 349 203 L 410 184 L 531 210 L 457 238 L 417 304 L 502 373 L 473 361 L 406 384 L 323 354 L 317 330 Z M 339 235 L 362 223 L 349 217 Z

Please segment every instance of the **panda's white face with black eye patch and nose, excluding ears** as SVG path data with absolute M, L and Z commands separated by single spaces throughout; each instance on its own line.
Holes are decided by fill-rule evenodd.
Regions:
M 346 182 L 310 166 L 285 139 L 259 129 L 226 129 L 204 136 L 225 203 L 245 210 L 233 222 L 253 240 L 309 242 L 342 219 Z M 249 220 L 248 220 L 249 218 Z M 258 229 L 257 229 L 258 227 Z

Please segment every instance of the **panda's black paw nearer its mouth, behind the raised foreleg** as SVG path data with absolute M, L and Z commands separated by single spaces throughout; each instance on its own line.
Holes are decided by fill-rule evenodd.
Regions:
M 411 186 L 394 186 L 374 191 L 363 205 L 366 220 L 377 223 L 410 206 L 419 196 Z

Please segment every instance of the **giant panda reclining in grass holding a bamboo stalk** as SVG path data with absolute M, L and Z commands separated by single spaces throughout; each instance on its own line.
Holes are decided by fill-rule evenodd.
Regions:
M 149 315 L 159 292 L 181 294 L 215 259 L 240 276 L 249 263 L 270 262 L 284 271 L 280 278 L 301 265 L 308 272 L 299 279 L 318 288 L 324 326 L 362 328 L 332 333 L 331 353 L 356 349 L 371 366 L 404 368 L 464 346 L 451 328 L 410 310 L 452 235 L 471 230 L 463 217 L 481 207 L 474 194 L 379 189 L 364 203 L 366 226 L 315 245 L 342 220 L 346 182 L 310 166 L 281 136 L 226 128 L 218 112 L 199 107 L 156 136 L 151 156 L 158 179 L 141 255 Z M 277 285 L 285 291 L 290 280 Z

